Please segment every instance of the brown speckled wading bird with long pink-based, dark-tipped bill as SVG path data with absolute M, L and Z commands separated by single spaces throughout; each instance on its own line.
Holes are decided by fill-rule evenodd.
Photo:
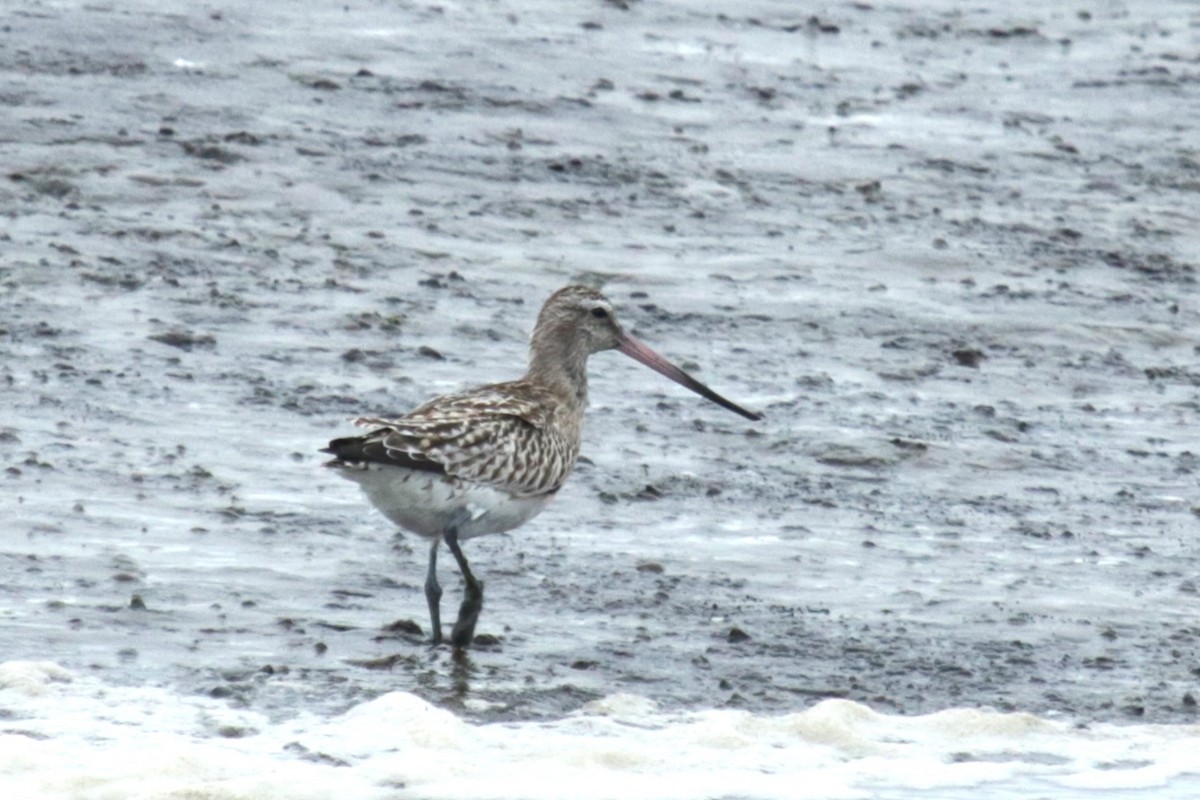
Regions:
M 450 634 L 464 648 L 484 587 L 460 542 L 529 522 L 563 486 L 580 455 L 588 356 L 601 350 L 620 350 L 731 411 L 762 419 L 632 338 L 602 294 L 572 285 L 541 307 L 520 380 L 437 397 L 400 417 L 358 419 L 372 431 L 324 449 L 334 455 L 326 467 L 361 486 L 388 519 L 430 541 L 425 599 L 434 644 L 442 642 L 438 546 L 446 543 L 467 584 Z

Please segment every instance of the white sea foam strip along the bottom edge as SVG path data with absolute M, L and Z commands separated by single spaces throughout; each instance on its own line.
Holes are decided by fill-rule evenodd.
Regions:
M 284 722 L 206 697 L 0 664 L 0 796 L 1194 798 L 1200 727 L 1030 714 L 667 712 L 614 694 L 554 722 L 475 724 L 394 692 Z

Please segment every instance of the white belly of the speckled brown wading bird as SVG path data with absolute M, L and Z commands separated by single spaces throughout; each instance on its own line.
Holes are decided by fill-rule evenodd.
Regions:
M 458 539 L 512 530 L 536 517 L 553 497 L 514 497 L 490 486 L 386 464 L 337 473 L 361 486 L 388 519 L 427 539 L 440 539 L 452 524 L 457 524 Z

